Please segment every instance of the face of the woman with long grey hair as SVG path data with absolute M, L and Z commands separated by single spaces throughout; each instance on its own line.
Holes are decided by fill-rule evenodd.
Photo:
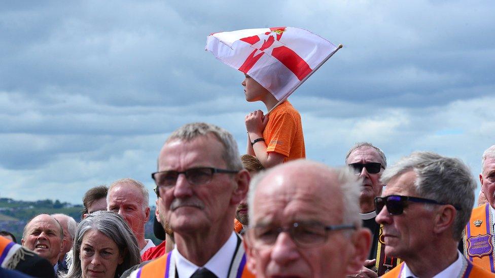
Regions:
M 79 258 L 83 278 L 114 278 L 117 266 L 124 261 L 117 244 L 98 230 L 89 230 L 83 235 Z

